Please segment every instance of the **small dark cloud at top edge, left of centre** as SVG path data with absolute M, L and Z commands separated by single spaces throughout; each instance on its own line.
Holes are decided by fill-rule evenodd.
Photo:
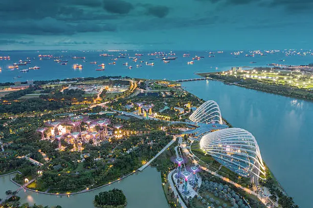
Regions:
M 128 14 L 132 9 L 132 4 L 123 0 L 104 0 L 103 8 L 110 13 Z

